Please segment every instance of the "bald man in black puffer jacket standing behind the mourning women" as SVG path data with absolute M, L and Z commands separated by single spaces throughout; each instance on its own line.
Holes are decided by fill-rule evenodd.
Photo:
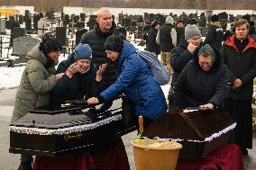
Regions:
M 88 44 L 93 49 L 92 59 L 96 67 L 107 63 L 103 75 L 105 86 L 113 84 L 116 79 L 115 63 L 106 58 L 104 48 L 105 40 L 112 34 L 121 34 L 113 24 L 112 13 L 107 9 L 100 9 L 97 12 L 95 29 L 87 31 L 80 40 L 81 43 Z M 125 35 L 123 35 L 123 39 L 125 39 Z

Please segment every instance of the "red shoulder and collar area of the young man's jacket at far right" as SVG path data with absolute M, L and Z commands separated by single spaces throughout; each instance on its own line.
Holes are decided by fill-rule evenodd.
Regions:
M 235 44 L 234 44 L 234 38 L 235 35 L 227 38 L 227 40 L 225 40 L 225 45 L 232 47 L 237 53 L 240 53 L 239 50 L 236 48 Z M 245 48 L 242 50 L 242 53 L 244 51 L 246 51 L 247 49 L 256 49 L 256 40 L 254 40 L 253 38 L 251 38 L 250 36 L 248 36 L 248 44 L 245 46 Z M 241 53 L 241 54 L 242 54 Z

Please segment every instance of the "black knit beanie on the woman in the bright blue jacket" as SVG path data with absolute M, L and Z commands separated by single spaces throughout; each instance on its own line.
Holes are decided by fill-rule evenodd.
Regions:
M 123 38 L 119 35 L 111 35 L 105 40 L 105 50 L 121 52 L 123 49 Z

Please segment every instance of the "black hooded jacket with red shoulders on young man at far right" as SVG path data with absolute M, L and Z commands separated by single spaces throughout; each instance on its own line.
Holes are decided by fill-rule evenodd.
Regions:
M 224 64 L 228 67 L 229 82 L 233 85 L 233 81 L 239 78 L 242 80 L 242 86 L 232 90 L 228 97 L 234 100 L 251 100 L 253 79 L 256 76 L 256 40 L 248 37 L 248 44 L 240 53 L 234 39 L 235 35 L 225 40 L 221 54 Z

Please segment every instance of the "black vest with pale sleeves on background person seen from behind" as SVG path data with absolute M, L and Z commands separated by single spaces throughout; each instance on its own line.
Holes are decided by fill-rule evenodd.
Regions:
M 174 48 L 170 31 L 173 28 L 172 24 L 165 23 L 160 27 L 160 51 L 170 52 Z

